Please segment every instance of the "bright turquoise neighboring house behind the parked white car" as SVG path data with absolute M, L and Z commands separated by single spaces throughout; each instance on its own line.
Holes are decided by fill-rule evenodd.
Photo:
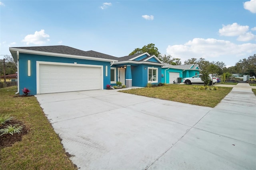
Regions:
M 187 65 L 170 65 L 164 63 L 162 67 L 162 83 L 173 83 L 178 82 L 178 77 L 186 78 L 192 77 L 200 73 L 198 65 L 187 64 Z M 182 80 L 181 80 L 182 82 Z

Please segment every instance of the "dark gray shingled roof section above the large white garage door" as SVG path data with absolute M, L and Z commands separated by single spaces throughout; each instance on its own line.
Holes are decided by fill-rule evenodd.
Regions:
M 107 55 L 107 54 L 99 53 L 92 50 L 82 51 L 80 49 L 68 47 L 65 45 L 38 46 L 38 47 L 12 47 L 12 48 L 118 60 L 118 57 L 114 57 L 112 55 Z

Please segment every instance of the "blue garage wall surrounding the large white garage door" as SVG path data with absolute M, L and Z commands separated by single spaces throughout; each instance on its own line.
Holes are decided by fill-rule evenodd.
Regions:
M 31 76 L 28 76 L 28 60 L 30 60 Z M 24 87 L 31 91 L 30 95 L 36 95 L 36 61 L 103 65 L 103 88 L 106 89 L 106 85 L 110 84 L 110 62 L 20 53 L 20 95 L 23 94 L 22 89 Z M 106 76 L 106 66 L 108 66 L 108 76 Z

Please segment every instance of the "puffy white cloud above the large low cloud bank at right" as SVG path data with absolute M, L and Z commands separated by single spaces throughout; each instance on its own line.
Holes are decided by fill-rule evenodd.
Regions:
M 241 34 L 245 34 L 249 30 L 249 26 L 240 26 L 237 23 L 233 23 L 232 25 L 222 25 L 222 28 L 219 29 L 219 33 L 221 36 L 240 36 Z

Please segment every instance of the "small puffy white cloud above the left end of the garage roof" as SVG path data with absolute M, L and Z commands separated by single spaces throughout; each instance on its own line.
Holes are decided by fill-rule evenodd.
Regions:
M 50 36 L 44 32 L 44 30 L 36 31 L 35 34 L 29 34 L 27 35 L 22 42 L 26 42 L 27 45 L 30 43 L 36 44 L 36 45 L 43 45 L 46 42 L 49 42 L 50 39 L 48 39 Z

